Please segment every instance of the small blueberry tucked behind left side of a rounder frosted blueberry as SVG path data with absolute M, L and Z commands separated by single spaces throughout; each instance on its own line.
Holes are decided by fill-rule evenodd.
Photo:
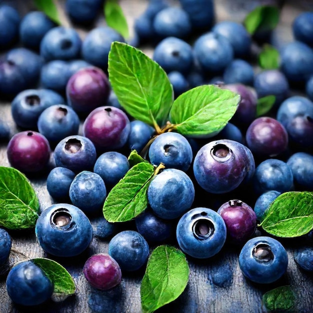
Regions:
M 66 167 L 54 167 L 46 178 L 46 188 L 50 196 L 58 201 L 69 199 L 69 186 L 75 173 Z

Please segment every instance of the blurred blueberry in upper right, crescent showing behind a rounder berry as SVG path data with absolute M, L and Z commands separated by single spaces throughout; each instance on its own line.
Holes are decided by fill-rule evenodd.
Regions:
M 235 57 L 249 56 L 252 40 L 242 23 L 230 20 L 219 21 L 211 31 L 224 36 L 230 42 Z

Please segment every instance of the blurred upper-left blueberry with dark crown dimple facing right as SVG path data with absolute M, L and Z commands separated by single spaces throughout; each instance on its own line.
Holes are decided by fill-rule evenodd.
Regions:
M 40 55 L 45 61 L 79 58 L 81 39 L 74 28 L 57 26 L 48 30 L 40 42 Z

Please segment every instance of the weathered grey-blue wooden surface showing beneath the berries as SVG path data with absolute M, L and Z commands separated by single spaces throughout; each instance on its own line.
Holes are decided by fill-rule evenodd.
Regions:
M 25 12 L 30 5 L 30 1 L 10 1 L 16 5 L 21 12 Z M 237 1 L 215 1 L 217 19 L 242 20 L 245 11 L 248 9 L 247 2 Z M 133 25 L 134 17 L 138 16 L 144 9 L 146 1 L 144 0 L 121 0 L 124 12 L 127 14 L 127 20 L 130 28 Z M 293 18 L 303 9 L 312 9 L 312 1 L 293 1 L 287 4 L 283 9 L 281 21 L 277 27 L 280 40 L 290 41 L 292 39 L 289 28 Z M 98 24 L 103 23 L 99 20 Z M 80 29 L 83 36 L 85 31 Z M 132 30 L 131 30 L 132 33 Z M 144 51 L 151 55 L 152 49 L 145 47 Z M 0 118 L 7 120 L 11 134 L 18 131 L 10 115 L 9 102 L 1 101 Z M 6 157 L 6 144 L 0 145 L 0 164 L 9 166 Z M 49 206 L 51 198 L 45 187 L 45 177 L 47 173 L 41 176 L 29 177 L 36 194 L 39 197 L 41 209 Z M 229 200 L 225 198 L 225 201 Z M 242 198 L 244 201 L 245 199 Z M 251 203 L 253 205 L 254 203 Z M 133 227 L 131 223 L 127 227 Z M 9 231 L 12 237 L 12 249 L 23 253 L 29 258 L 45 257 L 45 253 L 36 242 L 33 230 L 29 231 Z M 225 245 L 217 256 L 205 260 L 196 260 L 188 258 L 190 266 L 190 277 L 184 292 L 177 300 L 159 309 L 159 311 L 184 312 L 184 313 L 204 313 L 204 312 L 263 312 L 261 305 L 262 294 L 273 287 L 290 284 L 297 296 L 296 309 L 294 312 L 309 313 L 313 312 L 313 282 L 312 276 L 301 271 L 293 260 L 293 251 L 301 246 L 303 242 L 300 239 L 283 240 L 287 248 L 289 263 L 286 273 L 276 283 L 269 285 L 257 285 L 246 280 L 238 266 L 239 247 Z M 108 313 L 137 313 L 140 312 L 140 281 L 143 270 L 135 273 L 123 273 L 122 281 L 119 286 L 100 292 L 91 288 L 86 282 L 81 270 L 86 258 L 97 252 L 107 252 L 108 240 L 99 240 L 93 238 L 90 247 L 79 257 L 57 259 L 71 273 L 77 291 L 61 302 L 49 301 L 45 305 L 33 307 L 33 312 L 108 312 Z M 22 256 L 19 253 L 11 252 L 9 265 Z M 223 279 L 218 279 L 216 272 L 223 272 Z M 9 299 L 5 289 L 6 273 L 0 275 L 0 313 L 17 313 L 29 311 L 27 308 L 17 306 Z

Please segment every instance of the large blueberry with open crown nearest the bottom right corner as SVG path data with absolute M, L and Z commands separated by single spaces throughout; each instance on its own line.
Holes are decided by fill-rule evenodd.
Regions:
M 257 283 L 271 283 L 286 271 L 288 256 L 283 245 L 268 236 L 249 239 L 239 254 L 244 276 Z

